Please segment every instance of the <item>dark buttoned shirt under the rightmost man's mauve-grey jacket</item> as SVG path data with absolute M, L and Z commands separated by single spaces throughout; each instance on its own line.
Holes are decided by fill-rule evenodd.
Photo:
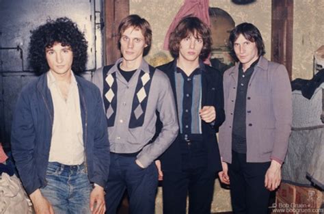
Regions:
M 246 94 L 249 79 L 254 72 L 254 66 L 258 59 L 245 72 L 242 64 L 239 66 L 239 78 L 237 81 L 237 99 L 234 107 L 234 120 L 232 131 L 232 150 L 239 153 L 246 153 Z

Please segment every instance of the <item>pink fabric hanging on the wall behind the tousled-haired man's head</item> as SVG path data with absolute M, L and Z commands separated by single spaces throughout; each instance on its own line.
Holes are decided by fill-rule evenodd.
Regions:
M 192 15 L 200 18 L 201 21 L 206 23 L 206 25 L 211 26 L 211 21 L 209 19 L 208 14 L 209 8 L 209 0 L 185 0 L 185 3 L 174 17 L 174 21 L 172 21 L 169 29 L 167 30 L 167 34 L 164 38 L 163 49 L 168 50 L 169 45 L 169 37 L 172 31 L 176 28 L 176 25 L 180 22 L 181 18 Z

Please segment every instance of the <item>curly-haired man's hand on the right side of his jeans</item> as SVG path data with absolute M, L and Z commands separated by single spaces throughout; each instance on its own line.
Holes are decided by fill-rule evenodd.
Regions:
M 90 194 L 90 211 L 93 214 L 103 214 L 106 211 L 105 191 L 103 187 L 94 186 Z

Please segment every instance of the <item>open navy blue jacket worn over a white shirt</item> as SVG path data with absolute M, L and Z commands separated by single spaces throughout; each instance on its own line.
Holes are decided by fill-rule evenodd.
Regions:
M 109 172 L 107 122 L 98 88 L 75 77 L 80 96 L 87 175 L 105 187 Z M 53 101 L 46 74 L 25 85 L 18 97 L 12 122 L 12 155 L 28 194 L 46 185 L 46 168 L 53 126 Z

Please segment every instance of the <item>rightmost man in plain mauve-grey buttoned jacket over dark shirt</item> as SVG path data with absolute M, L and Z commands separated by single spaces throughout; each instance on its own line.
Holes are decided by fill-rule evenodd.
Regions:
M 224 73 L 219 178 L 230 185 L 234 213 L 267 213 L 291 133 L 291 84 L 283 65 L 263 57 L 265 45 L 254 25 L 235 27 L 230 48 L 239 63 Z

